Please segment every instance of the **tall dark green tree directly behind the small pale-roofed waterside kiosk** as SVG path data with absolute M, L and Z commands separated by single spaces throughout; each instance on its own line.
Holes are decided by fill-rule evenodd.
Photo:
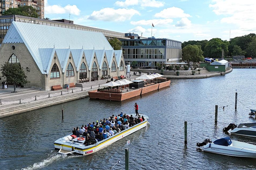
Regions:
M 222 41 L 220 38 L 213 38 L 206 44 L 204 56 L 213 58 L 221 57 L 222 49 L 224 50 L 224 54 L 228 54 L 228 45 L 229 42 L 227 40 Z

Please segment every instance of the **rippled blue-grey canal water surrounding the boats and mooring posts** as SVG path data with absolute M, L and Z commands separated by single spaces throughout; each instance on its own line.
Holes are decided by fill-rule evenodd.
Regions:
M 0 119 L 0 169 L 124 169 L 126 141 L 130 169 L 255 169 L 255 159 L 234 158 L 199 151 L 197 142 L 227 137 L 229 123 L 255 122 L 248 116 L 256 108 L 254 69 L 209 79 L 172 80 L 170 88 L 130 100 L 103 101 L 89 98 L 38 109 Z M 235 112 L 235 92 L 238 92 Z M 89 156 L 63 156 L 53 142 L 81 126 L 112 114 L 139 113 L 149 116 L 149 125 Z M 214 123 L 215 105 L 219 106 Z M 223 110 L 223 106 L 225 109 Z M 184 122 L 188 122 L 188 144 L 184 144 Z M 255 142 L 256 139 L 231 136 Z

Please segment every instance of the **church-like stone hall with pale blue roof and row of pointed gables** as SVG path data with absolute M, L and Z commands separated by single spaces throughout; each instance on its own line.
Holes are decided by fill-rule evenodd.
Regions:
M 0 65 L 6 62 L 20 63 L 26 85 L 45 90 L 126 74 L 122 50 L 114 50 L 102 32 L 15 21 L 0 47 Z

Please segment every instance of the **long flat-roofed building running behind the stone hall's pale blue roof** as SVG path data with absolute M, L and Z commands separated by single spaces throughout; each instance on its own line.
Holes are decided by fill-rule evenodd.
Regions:
M 77 24 L 73 24 L 73 21 L 70 21 L 70 20 L 63 19 L 63 20 L 54 21 L 54 20 L 45 20 L 45 19 L 39 19 L 39 18 L 31 18 L 31 17 L 21 16 L 21 15 L 6 15 L 6 16 L 0 16 L 0 44 L 2 43 L 4 36 L 6 35 L 6 32 L 10 28 L 12 21 L 40 24 L 40 25 L 49 25 L 53 27 L 70 28 L 70 29 L 83 30 L 83 31 L 102 32 L 106 38 L 118 38 L 118 39 L 126 38 L 124 36 L 124 33 L 121 33 L 121 32 L 115 32 L 115 31 L 103 30 L 99 28 L 86 27 L 83 25 L 77 25 Z M 30 30 L 30 32 L 39 34 L 39 32 L 37 32 L 36 30 Z

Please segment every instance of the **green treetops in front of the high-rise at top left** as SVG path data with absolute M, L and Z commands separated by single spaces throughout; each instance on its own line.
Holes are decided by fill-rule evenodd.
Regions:
M 33 18 L 38 18 L 36 9 L 32 6 L 19 6 L 18 8 L 9 8 L 3 15 L 22 15 Z

